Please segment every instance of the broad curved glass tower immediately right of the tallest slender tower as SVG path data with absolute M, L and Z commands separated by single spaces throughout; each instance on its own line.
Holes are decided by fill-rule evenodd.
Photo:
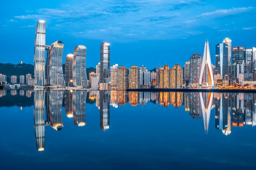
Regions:
M 50 86 L 64 86 L 64 74 L 62 68 L 62 54 L 64 44 L 61 41 L 55 41 L 49 47 L 46 62 L 46 80 Z

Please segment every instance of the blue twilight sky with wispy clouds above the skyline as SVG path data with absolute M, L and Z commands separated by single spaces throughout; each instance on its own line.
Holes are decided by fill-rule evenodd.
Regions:
M 63 41 L 63 63 L 74 46 L 86 46 L 87 68 L 100 61 L 103 41 L 111 46 L 110 65 L 148 70 L 183 66 L 192 54 L 203 53 L 205 39 L 214 65 L 215 45 L 226 37 L 232 47 L 256 46 L 253 0 L 4 0 L 0 63 L 34 65 L 38 20 L 46 21 L 47 45 Z

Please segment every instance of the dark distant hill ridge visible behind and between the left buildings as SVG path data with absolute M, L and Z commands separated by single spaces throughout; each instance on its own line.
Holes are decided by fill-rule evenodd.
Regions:
M 65 74 L 65 64 L 62 65 L 63 74 Z M 89 80 L 89 73 L 96 72 L 96 68 L 86 68 L 87 79 Z M 31 74 L 31 77 L 34 78 L 34 65 L 26 63 L 0 63 L 0 74 L 7 76 L 7 82 L 11 82 L 11 76 L 17 76 L 17 82 L 20 82 L 20 75 L 24 75 L 26 79 L 26 74 Z

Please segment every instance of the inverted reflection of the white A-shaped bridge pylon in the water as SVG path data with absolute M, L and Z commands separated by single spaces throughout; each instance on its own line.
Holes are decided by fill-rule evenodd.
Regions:
M 212 106 L 212 102 L 213 102 L 213 93 L 211 93 L 211 92 L 208 93 L 207 101 L 205 102 L 206 106 L 204 105 L 204 99 L 203 99 L 202 92 L 200 92 L 199 95 L 200 95 L 200 104 L 201 104 L 201 108 L 202 108 L 202 116 L 203 116 L 203 120 L 204 120 L 204 133 L 208 133 L 210 116 L 211 116 L 211 106 Z

